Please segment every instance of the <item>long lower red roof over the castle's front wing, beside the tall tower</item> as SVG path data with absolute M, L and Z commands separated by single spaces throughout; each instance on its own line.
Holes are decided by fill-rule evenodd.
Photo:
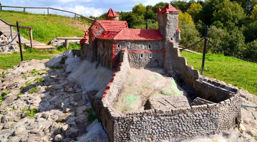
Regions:
M 122 29 L 120 31 L 103 31 L 97 39 L 105 40 L 160 40 L 163 39 L 159 30 Z

